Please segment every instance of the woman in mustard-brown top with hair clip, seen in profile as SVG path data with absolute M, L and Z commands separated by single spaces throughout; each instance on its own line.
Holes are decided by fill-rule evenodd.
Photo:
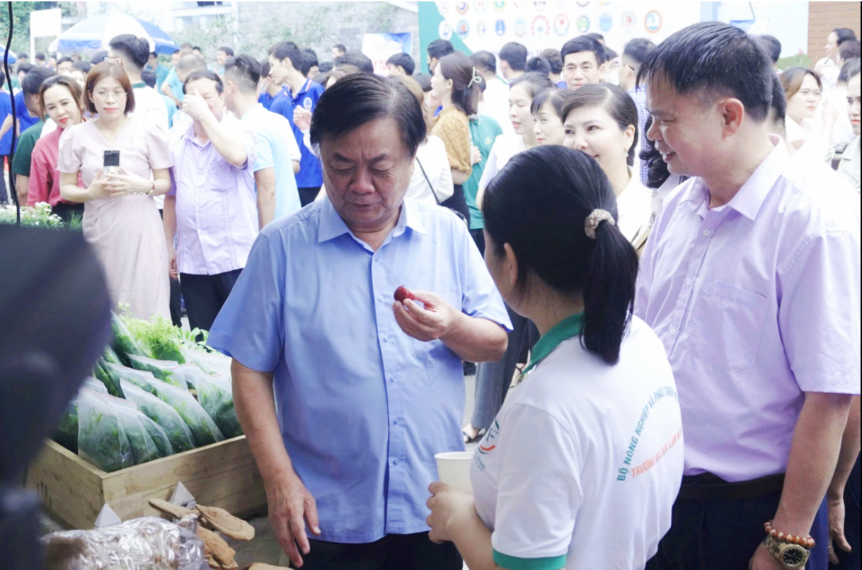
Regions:
M 470 121 L 467 117 L 478 112 L 479 81 L 482 77 L 470 59 L 458 52 L 440 58 L 434 68 L 434 77 L 431 77 L 431 95 L 443 105 L 431 134 L 440 137 L 446 145 L 454 183 L 454 194 L 441 205 L 459 212 L 465 220 L 470 219 L 470 210 L 461 185 L 473 170 Z

